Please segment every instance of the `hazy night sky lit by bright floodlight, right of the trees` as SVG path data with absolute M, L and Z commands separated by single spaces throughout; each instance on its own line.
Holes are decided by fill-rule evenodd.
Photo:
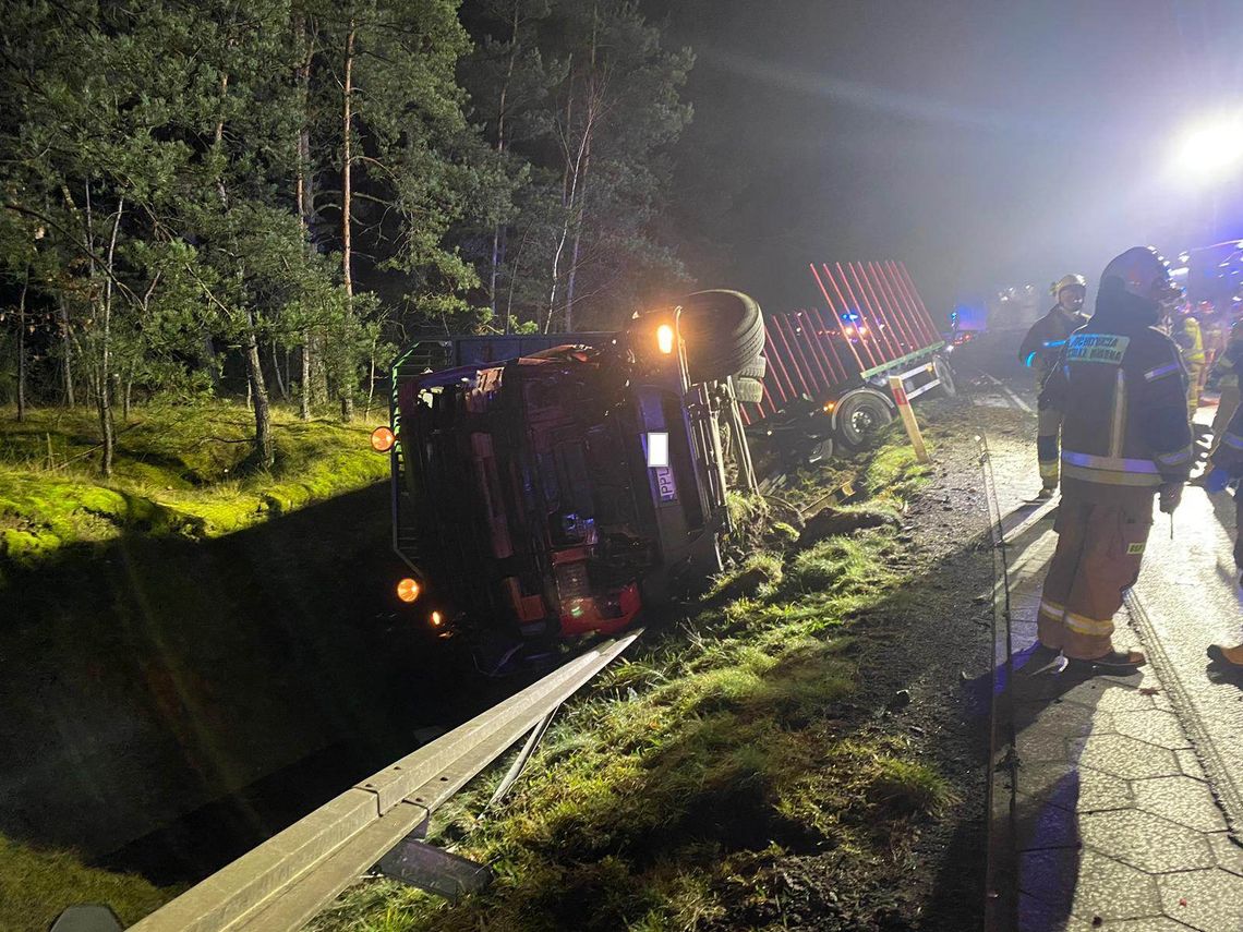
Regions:
M 1243 108 L 1243 0 L 645 9 L 697 53 L 682 255 L 772 311 L 814 301 L 812 260 L 905 260 L 943 314 L 1243 235 L 1237 178 L 1173 168 L 1188 127 Z

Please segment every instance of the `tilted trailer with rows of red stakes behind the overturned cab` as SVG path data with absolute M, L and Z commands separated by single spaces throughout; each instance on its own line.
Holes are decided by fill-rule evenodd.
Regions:
M 819 459 L 833 440 L 865 446 L 892 420 L 891 375 L 907 398 L 936 388 L 953 394 L 948 347 L 901 262 L 822 262 L 810 271 L 824 304 L 766 317 L 763 396 L 742 405 L 745 424 L 827 441 Z

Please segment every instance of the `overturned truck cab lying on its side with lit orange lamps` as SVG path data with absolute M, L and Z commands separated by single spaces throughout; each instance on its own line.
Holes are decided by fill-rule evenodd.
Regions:
M 484 343 L 410 347 L 373 435 L 399 598 L 434 630 L 521 642 L 619 630 L 718 572 L 722 439 L 753 481 L 733 383 L 763 333 L 755 301 L 709 291 L 590 344 L 465 364 L 449 350 Z

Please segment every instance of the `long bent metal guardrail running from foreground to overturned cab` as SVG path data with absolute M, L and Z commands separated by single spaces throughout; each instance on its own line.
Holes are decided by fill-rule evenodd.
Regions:
M 607 641 L 354 784 L 132 926 L 132 932 L 297 930 L 643 634 Z

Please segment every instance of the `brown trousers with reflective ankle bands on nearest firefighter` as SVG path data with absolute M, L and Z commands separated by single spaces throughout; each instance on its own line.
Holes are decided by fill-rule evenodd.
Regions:
M 1073 660 L 1112 650 L 1114 614 L 1140 578 L 1152 527 L 1152 492 L 1135 490 L 1127 505 L 1062 498 L 1053 529 L 1058 549 L 1040 593 L 1040 644 Z

